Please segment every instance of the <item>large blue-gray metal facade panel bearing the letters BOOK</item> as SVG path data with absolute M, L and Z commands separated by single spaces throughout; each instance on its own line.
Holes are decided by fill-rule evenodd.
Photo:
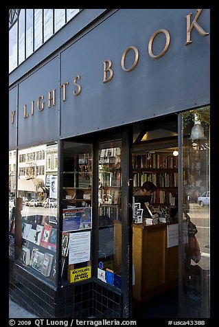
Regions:
M 61 54 L 61 83 L 69 81 L 67 101 L 61 101 L 61 137 L 98 131 L 209 103 L 209 36 L 192 30 L 192 44 L 185 46 L 186 19 L 194 9 L 122 9 L 80 38 Z M 209 10 L 198 23 L 210 32 Z M 170 32 L 170 47 L 161 58 L 148 55 L 154 32 Z M 159 42 L 161 43 L 159 45 Z M 164 43 L 155 38 L 153 51 Z M 124 50 L 139 49 L 135 69 L 121 68 Z M 158 52 L 158 53 L 159 53 Z M 113 78 L 103 84 L 103 61 L 113 63 Z M 126 58 L 130 67 L 131 54 Z M 129 66 L 128 66 L 129 65 Z M 73 95 L 73 78 L 81 76 L 82 91 Z

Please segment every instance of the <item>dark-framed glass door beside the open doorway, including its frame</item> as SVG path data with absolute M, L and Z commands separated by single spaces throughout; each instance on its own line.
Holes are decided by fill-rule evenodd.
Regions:
M 119 133 L 97 142 L 97 278 L 114 286 L 122 301 L 120 306 L 106 308 L 107 315 L 131 315 L 132 291 L 132 205 L 130 192 L 130 133 Z M 109 301 L 111 303 L 111 301 Z M 122 307 L 121 307 L 122 306 Z M 114 311 L 114 313 L 113 313 Z

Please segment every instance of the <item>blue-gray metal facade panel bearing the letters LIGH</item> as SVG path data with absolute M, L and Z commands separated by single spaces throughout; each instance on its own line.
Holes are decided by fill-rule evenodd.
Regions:
M 58 139 L 59 135 L 59 64 L 58 57 L 38 69 L 19 84 L 19 137 L 18 146 L 43 144 Z M 48 108 L 48 92 L 56 89 L 56 105 Z M 37 100 L 43 95 L 45 107 L 37 108 Z M 34 115 L 31 104 L 34 100 Z M 24 118 L 27 105 L 29 117 Z

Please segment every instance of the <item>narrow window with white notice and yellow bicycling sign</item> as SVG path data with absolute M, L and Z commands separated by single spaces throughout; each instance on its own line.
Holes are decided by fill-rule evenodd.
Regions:
M 62 284 L 91 278 L 93 146 L 63 142 Z

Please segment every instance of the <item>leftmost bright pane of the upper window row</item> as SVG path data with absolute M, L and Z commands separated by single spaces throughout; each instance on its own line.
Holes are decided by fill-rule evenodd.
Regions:
M 17 66 L 17 22 L 9 31 L 9 72 Z

